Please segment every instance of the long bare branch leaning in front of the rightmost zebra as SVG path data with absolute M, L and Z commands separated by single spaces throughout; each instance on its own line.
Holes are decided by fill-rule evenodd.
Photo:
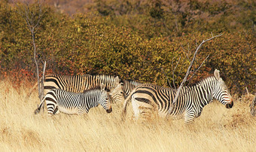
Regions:
M 184 83 L 187 81 L 187 77 L 188 77 L 188 75 L 190 74 L 190 69 L 192 68 L 192 65 L 194 64 L 194 61 L 195 61 L 195 59 L 196 59 L 196 57 L 197 57 L 197 53 L 198 53 L 198 50 L 200 50 L 200 47 L 202 47 L 202 45 L 203 45 L 204 43 L 206 43 L 206 41 L 210 41 L 210 40 L 212 40 L 213 38 L 220 37 L 221 35 L 222 35 L 222 34 L 216 35 L 216 36 L 213 36 L 213 35 L 212 35 L 212 38 L 203 40 L 203 41 L 201 42 L 201 44 L 197 47 L 197 49 L 196 49 L 196 51 L 195 51 L 195 53 L 194 53 L 193 59 L 192 59 L 192 61 L 190 62 L 190 65 L 189 65 L 188 68 L 187 68 L 187 72 L 186 72 L 186 74 L 185 74 L 185 76 L 184 76 L 184 79 L 183 79 L 183 81 L 181 82 L 181 85 L 178 87 L 178 90 L 177 90 L 177 92 L 176 92 L 176 94 L 175 94 L 175 99 L 173 99 L 172 105 L 170 106 L 167 115 L 171 114 L 172 111 L 173 111 L 173 109 L 174 109 L 174 107 L 175 107 L 175 104 L 176 104 L 177 99 L 178 99 L 178 97 L 179 97 L 179 94 L 180 94 L 180 92 L 181 92 L 181 88 L 184 86 Z

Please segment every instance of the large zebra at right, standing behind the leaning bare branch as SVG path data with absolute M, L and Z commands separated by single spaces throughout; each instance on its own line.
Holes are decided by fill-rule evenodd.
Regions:
M 124 105 L 130 98 L 132 99 L 136 118 L 139 117 L 139 114 L 145 113 L 143 108 L 157 111 L 160 117 L 166 117 L 175 98 L 175 93 L 176 90 L 172 88 L 142 84 L 130 93 L 130 96 L 124 101 Z M 217 69 L 213 76 L 201 80 L 194 86 L 181 88 L 181 94 L 170 114 L 184 116 L 184 122 L 191 123 L 200 116 L 203 107 L 212 102 L 213 99 L 217 99 L 226 108 L 233 107 L 233 99 Z M 126 106 L 123 108 L 123 115 L 125 114 Z

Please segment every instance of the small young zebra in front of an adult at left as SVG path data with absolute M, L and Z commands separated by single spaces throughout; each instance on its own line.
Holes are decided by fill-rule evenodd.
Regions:
M 112 111 L 110 97 L 103 84 L 100 88 L 87 90 L 85 93 L 72 93 L 54 88 L 44 96 L 41 104 L 35 109 L 35 114 L 40 112 L 44 100 L 49 115 L 57 114 L 58 111 L 66 114 L 85 114 L 90 108 L 98 105 L 102 105 L 107 113 Z

